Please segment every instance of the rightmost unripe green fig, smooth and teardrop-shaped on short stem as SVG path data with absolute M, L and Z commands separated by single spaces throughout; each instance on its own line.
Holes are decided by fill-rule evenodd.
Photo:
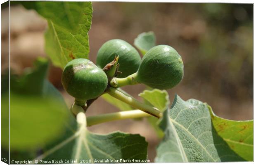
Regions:
M 137 82 L 157 89 L 175 87 L 183 78 L 183 61 L 178 52 L 167 45 L 151 48 L 142 58 Z

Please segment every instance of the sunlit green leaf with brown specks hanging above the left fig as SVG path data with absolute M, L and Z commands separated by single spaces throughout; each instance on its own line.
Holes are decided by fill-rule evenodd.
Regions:
M 74 58 L 89 54 L 88 31 L 92 20 L 91 2 L 21 2 L 48 21 L 45 51 L 53 64 L 63 68 Z

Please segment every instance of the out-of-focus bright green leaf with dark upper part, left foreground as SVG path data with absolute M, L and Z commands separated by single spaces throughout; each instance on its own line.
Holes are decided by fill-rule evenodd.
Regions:
M 24 75 L 10 76 L 10 149 L 36 150 L 64 133 L 70 111 L 55 87 L 46 80 L 48 62 L 39 58 Z M 2 99 L 8 99 L 6 92 Z M 8 102 L 2 102 L 8 108 Z M 8 112 L 8 111 L 7 111 Z M 2 119 L 8 118 L 8 113 Z M 7 127 L 7 126 L 6 126 Z M 8 130 L 8 128 L 4 128 Z M 5 139 L 4 139 L 5 140 Z M 8 143 L 2 145 L 8 148 Z

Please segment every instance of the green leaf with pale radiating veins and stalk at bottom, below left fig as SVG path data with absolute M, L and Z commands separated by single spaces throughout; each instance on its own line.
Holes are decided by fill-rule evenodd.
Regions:
M 75 161 L 73 163 L 120 163 L 121 159 L 145 160 L 147 158 L 145 137 L 121 132 L 105 135 L 91 133 L 85 122 L 84 115 L 84 119 L 78 121 L 76 132 L 69 137 L 65 136 L 61 142 L 48 148 L 35 160 L 66 159 Z M 110 162 L 104 162 L 104 160 Z

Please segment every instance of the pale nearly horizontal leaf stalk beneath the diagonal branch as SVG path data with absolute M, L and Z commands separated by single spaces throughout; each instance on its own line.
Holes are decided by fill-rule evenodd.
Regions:
M 140 117 L 150 117 L 148 113 L 141 110 L 128 110 L 123 112 L 107 113 L 102 115 L 88 116 L 87 126 L 101 124 L 109 121 L 123 120 L 123 119 L 134 119 Z

